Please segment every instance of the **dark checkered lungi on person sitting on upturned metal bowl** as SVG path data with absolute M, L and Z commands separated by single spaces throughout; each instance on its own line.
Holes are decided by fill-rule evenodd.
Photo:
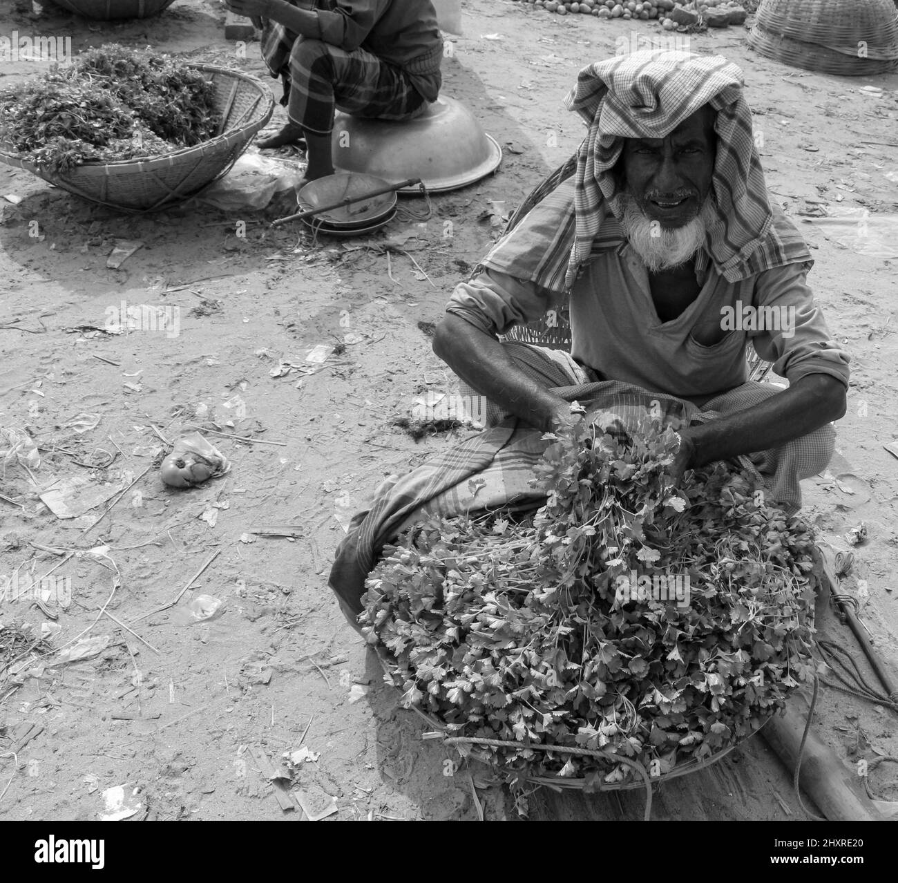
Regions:
M 365 49 L 298 37 L 284 78 L 287 116 L 315 135 L 330 134 L 336 108 L 369 119 L 414 119 L 427 110 L 405 71 Z

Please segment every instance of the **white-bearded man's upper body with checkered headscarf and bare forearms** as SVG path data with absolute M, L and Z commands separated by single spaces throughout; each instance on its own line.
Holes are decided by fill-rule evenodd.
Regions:
M 806 285 L 806 244 L 770 205 L 738 67 L 649 51 L 581 71 L 577 171 L 455 289 L 434 349 L 490 402 L 555 430 L 552 390 L 616 385 L 688 403 L 672 469 L 748 455 L 788 511 L 832 456 L 849 356 Z M 500 342 L 567 298 L 571 351 Z M 745 349 L 788 389 L 747 382 Z M 569 396 L 568 396 L 569 398 Z M 713 419 L 709 419 L 713 418 Z

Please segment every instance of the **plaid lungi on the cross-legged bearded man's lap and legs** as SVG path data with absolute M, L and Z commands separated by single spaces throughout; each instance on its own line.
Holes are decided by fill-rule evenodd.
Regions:
M 601 411 L 620 419 L 626 428 L 649 407 L 660 407 L 666 422 L 689 425 L 744 411 L 779 392 L 773 384 L 749 382 L 706 402 L 700 409 L 674 396 L 651 393 L 617 380 L 591 381 L 590 373 L 567 353 L 520 342 L 505 344 L 517 366 L 568 402 L 580 402 L 590 419 Z M 464 388 L 462 386 L 462 393 Z M 476 393 L 475 393 L 476 394 Z M 383 546 L 410 525 L 430 516 L 453 517 L 497 508 L 537 508 L 545 495 L 531 486 L 533 466 L 549 442 L 539 429 L 515 417 L 502 417 L 487 406 L 483 432 L 441 451 L 403 476 L 393 476 L 374 491 L 371 508 L 353 518 L 346 539 L 337 549 L 329 585 L 339 597 L 348 622 L 358 628 L 365 579 Z M 770 451 L 740 456 L 738 463 L 753 474 L 770 499 L 788 515 L 801 507 L 799 480 L 823 472 L 834 449 L 832 424 Z

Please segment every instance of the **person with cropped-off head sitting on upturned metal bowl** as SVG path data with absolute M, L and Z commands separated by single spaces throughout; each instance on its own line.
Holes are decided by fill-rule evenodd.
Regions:
M 225 0 L 263 28 L 262 57 L 284 81 L 289 122 L 259 146 L 304 139 L 313 181 L 333 174 L 334 109 L 413 119 L 435 102 L 443 39 L 431 0 Z

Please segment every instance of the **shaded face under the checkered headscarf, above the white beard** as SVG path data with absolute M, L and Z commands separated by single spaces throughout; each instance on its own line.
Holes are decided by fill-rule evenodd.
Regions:
M 699 214 L 711 190 L 716 155 L 714 111 L 706 105 L 665 138 L 625 139 L 627 190 L 650 220 L 682 227 Z

